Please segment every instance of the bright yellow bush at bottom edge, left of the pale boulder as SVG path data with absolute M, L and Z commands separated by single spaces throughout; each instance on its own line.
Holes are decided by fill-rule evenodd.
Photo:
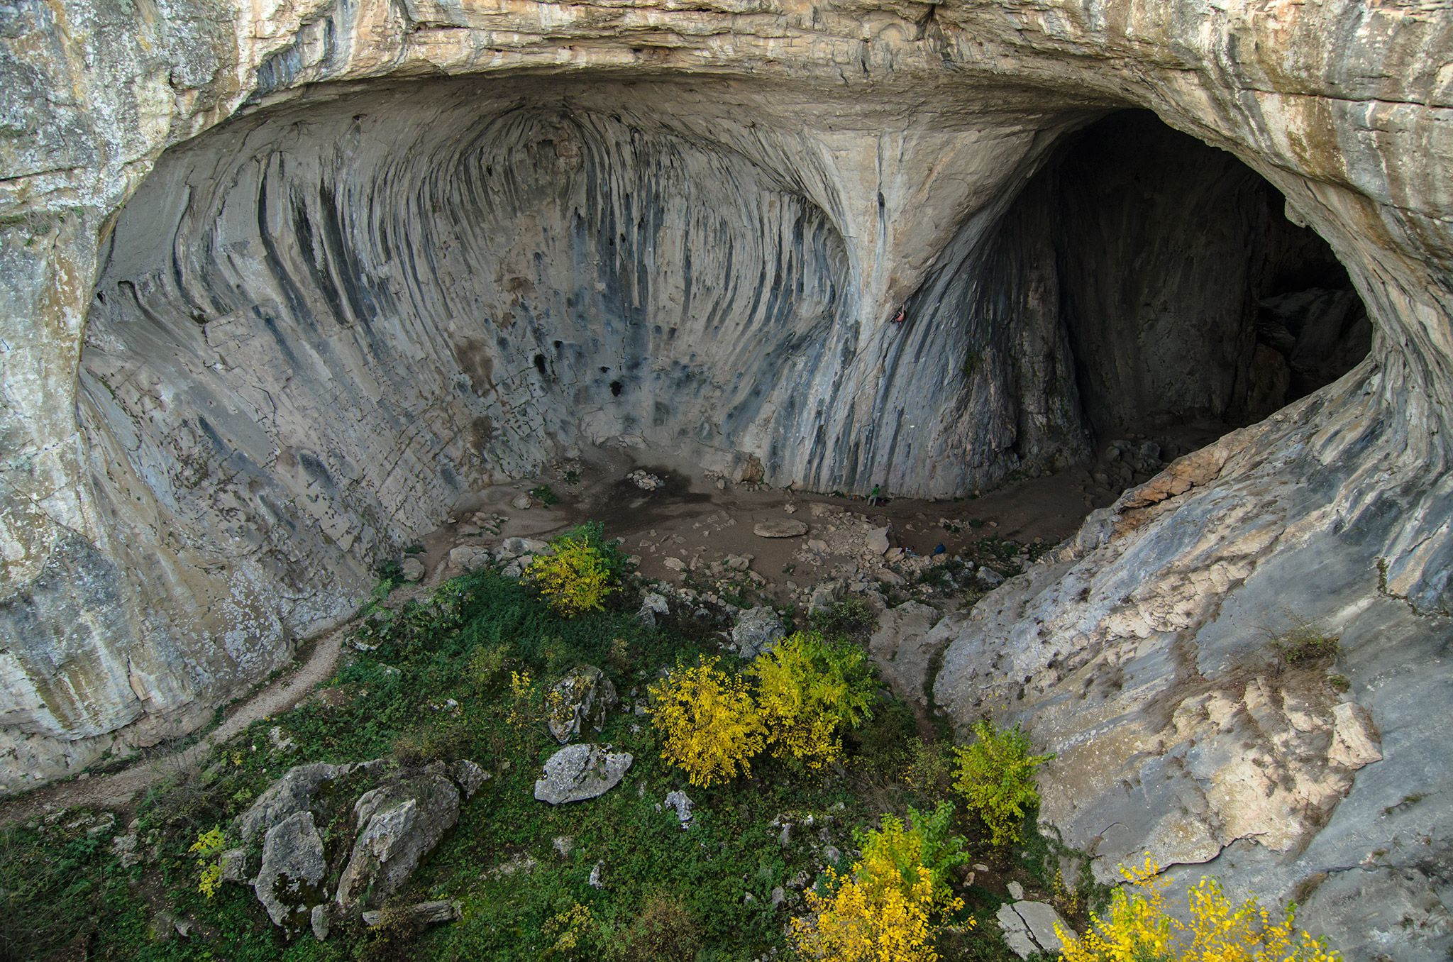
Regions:
M 828 886 L 827 897 L 806 892 L 812 917 L 792 920 L 796 950 L 822 962 L 937 962 L 931 915 L 963 907 L 923 865 L 923 834 L 886 815 L 850 876 L 828 869 Z

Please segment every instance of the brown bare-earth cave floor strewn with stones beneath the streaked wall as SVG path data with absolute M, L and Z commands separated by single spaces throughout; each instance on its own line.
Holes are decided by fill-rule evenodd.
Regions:
M 642 490 L 626 478 L 634 471 L 664 484 Z M 747 558 L 747 577 L 763 600 L 790 605 L 827 580 L 882 575 L 885 568 L 865 552 L 875 529 L 886 528 L 888 543 L 908 558 L 931 555 L 939 545 L 949 557 L 975 557 L 982 554 L 975 546 L 989 542 L 1010 561 L 1005 549 L 1013 546 L 1036 552 L 1055 545 L 1072 535 L 1090 510 L 1110 504 L 1123 490 L 1113 478 L 1098 481 L 1097 472 L 1104 478 L 1103 465 L 1087 465 L 1011 481 L 976 497 L 885 498 L 873 506 L 865 497 L 687 477 L 652 461 L 649 452 L 596 449 L 536 478 L 491 485 L 464 498 L 452 523 L 421 539 L 418 558 L 429 571 L 426 583 L 436 584 L 458 573 L 448 559 L 453 548 L 482 548 L 511 536 L 548 539 L 572 525 L 599 520 L 606 536 L 623 539 L 647 578 L 692 584 L 697 580 L 693 575 Z M 522 496 L 545 485 L 558 503 L 542 504 L 535 497 L 527 509 L 516 506 Z M 808 530 L 789 538 L 754 533 L 758 525 L 780 520 L 801 520 Z M 1005 574 L 1013 573 L 1013 564 L 1004 567 L 1010 568 Z

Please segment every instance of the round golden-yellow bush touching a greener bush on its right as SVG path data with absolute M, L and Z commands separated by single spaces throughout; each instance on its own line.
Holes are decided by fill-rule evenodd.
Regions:
M 763 727 L 745 682 L 729 677 L 708 658 L 654 683 L 651 725 L 661 734 L 661 757 L 680 766 L 692 785 L 711 786 L 750 775 L 761 751 Z

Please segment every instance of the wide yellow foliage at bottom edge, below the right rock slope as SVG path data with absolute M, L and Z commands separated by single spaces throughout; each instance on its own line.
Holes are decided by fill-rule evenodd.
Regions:
M 1338 962 L 1341 955 L 1308 931 L 1296 930 L 1295 910 L 1282 920 L 1248 898 L 1232 904 L 1213 878 L 1187 895 L 1189 921 L 1165 911 L 1168 879 L 1145 856 L 1141 868 L 1120 866 L 1129 886 L 1110 897 L 1110 914 L 1091 914 L 1081 939 L 1055 926 L 1064 962 Z

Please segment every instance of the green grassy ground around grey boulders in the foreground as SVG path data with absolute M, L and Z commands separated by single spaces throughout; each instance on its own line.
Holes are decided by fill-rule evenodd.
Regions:
M 604 610 L 570 619 L 529 584 L 494 570 L 392 606 L 381 586 L 355 632 L 363 650 L 347 655 L 327 686 L 218 747 L 198 772 L 179 772 L 150 792 L 134 827 L 65 812 L 0 830 L 0 889 L 10 910 L 0 914 L 0 959 L 783 955 L 788 920 L 806 911 L 805 889 L 830 865 L 851 868 L 854 833 L 876 827 L 883 814 L 933 811 L 947 798 L 949 744 L 920 732 L 907 706 L 875 693 L 872 718 L 844 734 L 841 757 L 822 770 L 763 754 L 751 777 L 689 785 L 680 769 L 661 760 L 649 719 L 632 709 L 645 702 L 660 670 L 677 660 L 721 655 L 734 670 L 742 666 L 721 651 L 715 631 L 687 631 L 673 618 L 658 628 L 642 625 L 634 615 L 639 590 L 629 573 L 625 580 Z M 862 636 L 870 618 L 838 605 L 822 626 L 835 636 Z M 622 785 L 602 798 L 549 807 L 533 798 L 541 763 L 558 747 L 541 724 L 543 695 L 580 664 L 603 668 L 623 699 L 597 740 L 635 761 Z M 292 747 L 276 747 L 273 727 Z M 459 900 L 461 921 L 376 931 L 347 923 L 324 943 L 308 934 L 289 940 L 267 921 L 250 888 L 225 884 L 212 898 L 199 891 L 198 856 L 187 852 L 199 836 L 225 831 L 295 764 L 375 757 L 468 757 L 491 775 L 394 900 Z M 686 789 L 696 805 L 684 831 L 673 811 L 658 808 L 676 789 Z M 320 822 L 330 852 L 334 838 L 352 831 L 355 796 L 353 788 L 340 788 L 337 811 Z M 966 815 L 956 818 L 953 831 L 975 859 L 1023 872 L 1014 868 L 1017 856 L 994 852 Z M 555 844 L 562 837 L 570 838 L 564 856 Z M 118 838 L 121 847 L 113 849 Z M 124 868 L 128 852 L 138 860 Z M 330 863 L 330 873 L 340 868 Z M 985 886 L 981 878 L 974 886 L 958 878 L 955 885 L 969 907 L 944 929 L 940 949 L 953 953 L 946 958 L 1005 958 L 992 923 L 1003 884 Z M 966 927 L 969 917 L 979 924 Z M 189 930 L 186 937 L 174 921 Z

